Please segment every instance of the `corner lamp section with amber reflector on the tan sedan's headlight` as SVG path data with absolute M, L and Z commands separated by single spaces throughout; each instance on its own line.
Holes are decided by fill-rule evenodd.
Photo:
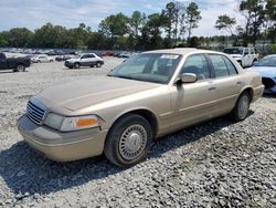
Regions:
M 61 126 L 62 132 L 73 132 L 99 126 L 95 115 L 65 117 Z

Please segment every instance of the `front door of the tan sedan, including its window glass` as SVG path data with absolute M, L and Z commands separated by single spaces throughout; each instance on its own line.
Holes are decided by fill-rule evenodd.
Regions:
M 215 87 L 204 54 L 191 55 L 187 59 L 180 74 L 193 73 L 195 83 L 183 83 L 170 87 L 172 119 L 171 129 L 211 118 L 214 112 Z

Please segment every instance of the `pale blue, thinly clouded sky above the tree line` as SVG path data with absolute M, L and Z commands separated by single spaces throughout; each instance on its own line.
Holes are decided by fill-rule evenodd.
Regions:
M 190 2 L 189 0 L 178 0 Z M 97 30 L 99 22 L 123 12 L 130 17 L 138 10 L 146 14 L 161 12 L 169 0 L 0 0 L 0 31 L 25 27 L 35 30 L 51 22 L 53 24 L 75 28 L 81 22 Z M 238 13 L 241 0 L 194 0 L 201 10 L 202 20 L 192 35 L 211 37 L 223 34 L 214 29 L 217 15 L 235 17 L 238 24 L 243 18 Z

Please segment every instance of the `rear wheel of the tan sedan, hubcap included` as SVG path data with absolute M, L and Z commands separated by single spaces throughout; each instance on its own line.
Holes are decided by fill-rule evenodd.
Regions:
M 251 104 L 250 94 L 247 92 L 243 92 L 240 95 L 235 107 L 230 114 L 231 117 L 236 122 L 244 121 L 248 115 L 250 104 Z

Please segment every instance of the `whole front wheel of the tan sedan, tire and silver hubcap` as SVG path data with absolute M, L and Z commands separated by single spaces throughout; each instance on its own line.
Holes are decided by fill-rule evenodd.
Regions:
M 117 166 L 134 166 L 146 158 L 152 137 L 151 126 L 146 118 L 127 114 L 108 132 L 105 156 Z

